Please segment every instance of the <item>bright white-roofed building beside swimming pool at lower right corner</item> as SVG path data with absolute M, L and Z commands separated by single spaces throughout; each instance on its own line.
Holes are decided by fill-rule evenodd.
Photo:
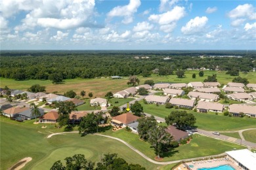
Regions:
M 256 153 L 247 149 L 232 150 L 226 154 L 240 165 L 243 169 L 256 170 Z

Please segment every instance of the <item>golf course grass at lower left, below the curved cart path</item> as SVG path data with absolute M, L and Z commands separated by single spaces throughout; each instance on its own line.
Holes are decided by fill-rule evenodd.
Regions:
M 31 122 L 28 122 L 31 123 Z M 27 122 L 25 124 L 28 124 Z M 48 126 L 48 125 L 47 125 Z M 89 160 L 98 161 L 105 153 L 117 153 L 129 163 L 139 163 L 146 169 L 157 169 L 133 150 L 116 140 L 96 135 L 80 137 L 78 134 L 56 135 L 50 139 L 39 133 L 41 128 L 22 126 L 1 119 L 1 167 L 7 169 L 16 161 L 32 157 L 24 169 L 50 169 L 52 163 L 66 156 L 85 154 Z

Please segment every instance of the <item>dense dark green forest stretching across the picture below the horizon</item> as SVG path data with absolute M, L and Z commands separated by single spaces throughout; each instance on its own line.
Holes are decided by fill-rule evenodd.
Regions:
M 143 53 L 142 53 L 143 52 Z M 139 54 L 148 59 L 135 59 Z M 209 52 L 208 55 L 218 55 Z M 221 54 L 221 52 L 220 52 Z M 240 52 L 228 54 L 241 55 Z M 61 82 L 66 78 L 98 76 L 171 75 L 187 68 L 251 71 L 256 67 L 255 54 L 244 58 L 199 58 L 202 52 L 1 52 L 0 76 L 16 80 L 40 79 Z M 222 54 L 223 55 L 223 54 Z M 171 59 L 164 60 L 165 56 Z

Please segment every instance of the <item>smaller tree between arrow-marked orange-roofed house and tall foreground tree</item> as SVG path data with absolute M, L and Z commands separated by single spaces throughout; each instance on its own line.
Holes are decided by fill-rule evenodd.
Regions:
M 158 122 L 156 122 L 156 119 L 154 116 L 150 117 L 142 117 L 138 119 L 139 125 L 138 125 L 138 133 L 140 139 L 143 139 L 144 141 L 148 140 L 148 129 L 151 127 L 155 127 Z

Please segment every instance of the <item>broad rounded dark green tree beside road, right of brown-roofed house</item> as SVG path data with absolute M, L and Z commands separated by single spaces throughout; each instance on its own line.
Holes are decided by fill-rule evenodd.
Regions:
M 165 122 L 167 125 L 175 124 L 179 129 L 186 129 L 186 127 L 196 124 L 196 117 L 192 113 L 187 113 L 185 110 L 175 110 L 169 116 L 165 117 Z

